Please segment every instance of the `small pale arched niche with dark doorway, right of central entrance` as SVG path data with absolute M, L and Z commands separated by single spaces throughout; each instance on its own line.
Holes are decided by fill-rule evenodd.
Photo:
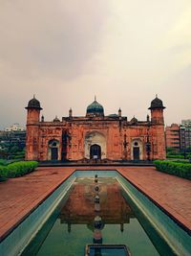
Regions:
M 140 139 L 133 139 L 131 142 L 131 159 L 143 160 L 143 144 Z

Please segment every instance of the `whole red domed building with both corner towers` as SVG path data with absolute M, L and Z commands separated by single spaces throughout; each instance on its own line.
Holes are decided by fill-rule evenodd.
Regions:
M 95 102 L 87 107 L 85 116 L 69 116 L 47 122 L 39 101 L 33 98 L 26 107 L 27 160 L 150 160 L 165 159 L 163 109 L 158 97 L 149 107 L 151 118 L 135 117 L 130 121 L 118 114 L 104 115 L 102 105 Z

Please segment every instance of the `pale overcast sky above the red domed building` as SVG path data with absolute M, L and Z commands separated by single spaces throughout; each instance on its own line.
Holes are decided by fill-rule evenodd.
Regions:
M 146 120 L 158 94 L 166 125 L 191 118 L 190 0 L 0 0 L 0 128 L 25 125 L 35 94 L 45 121 L 105 114 Z

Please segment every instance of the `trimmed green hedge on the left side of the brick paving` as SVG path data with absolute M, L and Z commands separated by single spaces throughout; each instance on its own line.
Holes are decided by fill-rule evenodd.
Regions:
M 0 180 L 8 177 L 17 177 L 31 173 L 38 166 L 36 161 L 20 161 L 0 166 Z

